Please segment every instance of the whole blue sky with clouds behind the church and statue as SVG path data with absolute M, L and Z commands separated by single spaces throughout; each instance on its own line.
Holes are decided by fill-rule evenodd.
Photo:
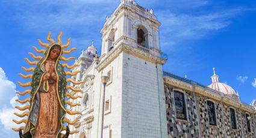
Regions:
M 23 58 L 30 57 L 37 39 L 46 41 L 49 31 L 57 38 L 63 31 L 63 43 L 71 37 L 78 57 L 92 40 L 101 51 L 100 29 L 120 1 L 0 1 L 0 130 L 9 137 L 15 99 L 14 91 L 23 91 L 17 75 L 29 67 Z M 256 2 L 206 0 L 136 1 L 153 9 L 161 22 L 161 50 L 168 55 L 164 70 L 204 85 L 211 83 L 211 68 L 216 67 L 220 81 L 239 91 L 242 101 L 256 98 Z M 31 59 L 31 58 L 30 58 Z M 26 74 L 26 73 L 24 73 Z M 14 97 L 14 98 L 13 98 Z

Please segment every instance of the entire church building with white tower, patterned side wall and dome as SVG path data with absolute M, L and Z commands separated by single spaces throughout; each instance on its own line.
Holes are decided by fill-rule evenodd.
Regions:
M 72 70 L 84 83 L 77 86 L 83 92 L 69 91 L 80 98 L 67 108 L 82 112 L 67 116 L 78 132 L 69 137 L 256 137 L 254 106 L 215 71 L 209 86 L 163 71 L 159 26 L 152 10 L 130 0 L 106 19 L 101 55 L 92 44 Z

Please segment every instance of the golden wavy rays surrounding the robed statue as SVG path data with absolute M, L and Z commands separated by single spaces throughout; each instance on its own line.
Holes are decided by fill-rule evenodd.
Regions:
M 69 47 L 69 44 L 70 44 L 70 40 L 71 38 L 68 38 L 67 40 L 67 43 L 66 44 L 63 44 L 62 45 L 62 41 L 61 41 L 61 37 L 63 35 L 63 32 L 61 31 L 60 34 L 58 35 L 58 41 L 57 41 L 57 44 L 60 44 L 60 46 L 63 48 L 63 49 L 66 49 L 67 47 Z M 48 48 L 48 46 L 50 46 L 50 44 L 48 43 L 43 43 L 42 40 L 38 40 L 39 41 L 39 44 L 40 46 L 43 46 L 43 47 L 46 47 L 46 49 Z M 47 41 L 50 42 L 50 43 L 56 43 L 54 41 L 54 39 L 51 38 L 51 31 L 49 31 L 49 34 L 47 36 Z M 45 49 L 37 49 L 37 47 L 33 46 L 33 49 L 37 52 L 37 53 L 45 53 L 46 50 Z M 63 54 L 69 54 L 71 52 L 73 52 L 74 50 L 77 50 L 76 48 L 72 48 L 70 50 L 63 50 Z M 28 58 L 25 58 L 25 61 L 28 62 L 29 65 L 37 65 L 38 61 L 40 61 L 43 57 L 42 56 L 36 56 L 34 55 L 34 53 L 29 53 L 29 55 L 32 56 L 33 59 L 36 59 L 37 61 L 30 61 L 30 59 Z M 69 61 L 70 59 L 75 59 L 74 57 L 67 57 L 67 58 L 64 58 L 64 56 L 61 56 L 61 60 L 62 61 Z M 77 67 L 78 65 L 76 64 L 73 64 L 73 65 L 67 65 L 67 64 L 63 64 L 63 67 L 66 67 L 67 69 L 72 69 L 72 68 L 75 68 Z M 34 71 L 34 67 L 30 67 L 30 68 L 25 68 L 25 67 L 22 67 L 22 69 L 24 71 Z M 75 71 L 73 73 L 70 73 L 69 71 L 65 71 L 67 73 L 67 75 L 69 76 L 74 76 L 75 74 L 79 73 L 80 71 Z M 22 78 L 24 79 L 31 79 L 31 77 L 33 77 L 33 74 L 22 74 L 20 73 L 19 76 L 21 76 Z M 70 79 L 67 79 L 69 82 L 72 82 L 74 85 L 78 85 L 80 83 L 83 83 L 83 82 L 75 82 L 75 81 L 72 81 Z M 30 87 L 31 86 L 31 82 L 28 82 L 28 83 L 21 83 L 21 82 L 17 82 L 20 86 L 22 87 Z M 75 92 L 81 92 L 81 89 L 75 89 L 73 88 L 72 86 L 67 86 L 68 89 L 72 90 L 72 91 L 75 91 Z M 24 92 L 16 92 L 16 94 L 18 94 L 19 96 L 24 96 L 26 94 L 30 94 L 30 89 L 27 89 L 25 90 Z M 81 98 L 81 96 L 74 96 L 72 94 L 69 94 L 68 92 L 66 93 L 66 97 L 69 97 L 69 98 L 72 98 L 72 99 L 76 99 L 76 98 Z M 30 98 L 26 98 L 25 100 L 19 100 L 17 99 L 16 102 L 20 103 L 20 104 L 24 104 L 24 103 L 30 103 Z M 70 106 L 80 106 L 79 103 L 70 103 L 69 101 L 66 101 L 65 102 L 66 104 L 69 104 Z M 27 109 L 30 109 L 30 105 L 25 105 L 23 107 L 19 107 L 19 106 L 16 106 L 16 109 L 19 109 L 19 110 L 27 110 Z M 67 109 L 67 113 L 70 114 L 70 115 L 77 115 L 77 114 L 81 114 L 81 112 L 78 112 L 78 111 L 72 111 L 72 110 L 69 110 Z M 23 113 L 14 113 L 14 115 L 16 116 L 19 116 L 20 118 L 23 118 L 24 116 L 28 116 L 29 115 L 29 112 L 23 112 Z M 16 124 L 21 124 L 21 123 L 25 123 L 27 122 L 27 119 L 22 119 L 21 121 L 16 121 L 14 120 L 14 122 Z M 73 123 L 71 123 L 73 124 Z M 18 131 L 19 129 L 22 129 L 24 130 L 24 127 L 20 127 L 20 128 L 13 128 L 14 131 Z M 75 133 L 75 132 L 73 132 Z

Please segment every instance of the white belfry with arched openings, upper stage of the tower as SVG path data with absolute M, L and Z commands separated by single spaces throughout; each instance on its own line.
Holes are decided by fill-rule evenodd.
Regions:
M 120 43 L 125 43 L 160 56 L 159 26 L 152 9 L 147 10 L 135 1 L 122 0 L 101 29 L 101 55 L 107 55 Z

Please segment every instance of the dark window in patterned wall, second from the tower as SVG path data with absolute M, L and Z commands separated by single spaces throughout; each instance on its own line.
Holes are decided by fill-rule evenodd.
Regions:
M 207 101 L 207 111 L 210 125 L 217 125 L 215 105 L 212 101 Z

